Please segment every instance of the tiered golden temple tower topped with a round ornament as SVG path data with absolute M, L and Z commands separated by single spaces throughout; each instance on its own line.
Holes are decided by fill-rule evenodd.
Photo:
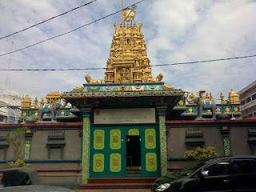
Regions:
M 142 22 L 134 22 L 136 12 L 122 11 L 122 24 L 114 23 L 115 32 L 106 62 L 105 83 L 160 82 L 162 74 L 152 78 L 150 59 L 146 54 L 146 42 L 142 34 Z

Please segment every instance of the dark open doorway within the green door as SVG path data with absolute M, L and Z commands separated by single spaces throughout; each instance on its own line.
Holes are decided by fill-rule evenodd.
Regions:
M 126 136 L 126 174 L 142 174 L 140 135 Z

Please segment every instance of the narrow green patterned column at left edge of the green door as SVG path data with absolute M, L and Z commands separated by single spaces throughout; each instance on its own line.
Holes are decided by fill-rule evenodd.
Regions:
M 82 184 L 90 176 L 90 110 L 82 110 Z

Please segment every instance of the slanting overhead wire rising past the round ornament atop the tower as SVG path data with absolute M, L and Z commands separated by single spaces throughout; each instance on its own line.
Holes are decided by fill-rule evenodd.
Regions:
M 144 1 L 146 1 L 146 0 L 141 0 L 141 1 L 139 1 L 139 2 L 136 2 L 136 3 L 134 3 L 134 4 L 131 5 L 131 6 L 134 6 L 134 5 L 136 5 L 136 4 L 140 3 L 140 2 L 144 2 Z M 127 6 L 126 8 L 124 8 L 124 10 L 126 10 L 126 9 L 129 8 L 129 7 L 130 7 L 130 6 Z M 115 13 L 113 13 L 113 14 L 108 14 L 108 15 L 106 15 L 105 17 L 98 18 L 98 19 L 95 20 L 94 22 L 99 22 L 99 21 L 101 21 L 102 19 L 108 18 L 108 17 L 110 17 L 110 16 L 112 16 L 112 15 L 114 15 L 114 14 L 118 14 L 118 13 L 121 12 L 121 11 L 122 11 L 122 10 L 118 10 L 117 12 L 115 12 Z M 36 46 L 36 45 L 38 45 L 38 44 L 41 44 L 42 42 L 47 42 L 47 41 L 49 41 L 49 40 L 51 40 L 51 39 L 61 37 L 61 36 L 65 35 L 65 34 L 70 34 L 70 33 L 74 32 L 75 30 L 81 29 L 82 27 L 90 26 L 90 25 L 93 24 L 94 22 L 89 22 L 89 23 L 87 23 L 87 24 L 85 24 L 85 25 L 83 25 L 83 26 L 79 26 L 78 28 L 75 28 L 74 30 L 70 30 L 70 31 L 68 31 L 68 32 L 66 32 L 66 33 L 63 33 L 63 34 L 58 34 L 58 35 L 56 35 L 56 36 L 54 36 L 54 37 L 52 37 L 52 38 L 47 38 L 46 40 L 43 40 L 43 41 L 41 41 L 41 42 L 34 43 L 33 45 L 26 46 L 26 47 L 23 47 L 23 48 L 21 48 L 21 49 L 19 49 L 19 50 L 14 50 L 14 51 L 11 51 L 11 52 L 6 53 L 6 54 L 12 54 L 12 53 L 18 52 L 18 51 L 20 51 L 20 50 L 26 50 L 27 48 L 29 48 L 29 47 L 31 47 L 31 46 Z M 0 57 L 4 56 L 4 55 L 6 55 L 6 54 L 0 54 Z

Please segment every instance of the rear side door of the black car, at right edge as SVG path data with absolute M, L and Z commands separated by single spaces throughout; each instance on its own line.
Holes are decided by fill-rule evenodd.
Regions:
M 254 159 L 232 160 L 231 175 L 235 191 L 256 191 L 256 162 Z

